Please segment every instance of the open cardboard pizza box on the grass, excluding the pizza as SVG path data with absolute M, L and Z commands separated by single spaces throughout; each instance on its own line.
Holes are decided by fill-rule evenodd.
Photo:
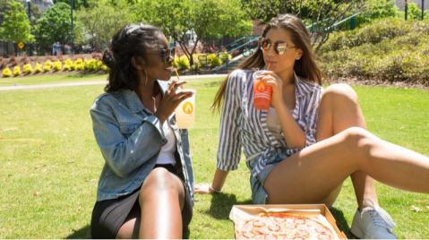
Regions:
M 330 210 L 324 204 L 264 204 L 264 205 L 234 205 L 229 212 L 229 219 L 234 222 L 234 228 L 239 229 L 240 224 L 252 219 L 261 213 L 290 213 L 300 216 L 322 220 L 327 227 L 336 233 L 339 239 L 347 239 L 347 236 L 339 230 L 336 220 Z

